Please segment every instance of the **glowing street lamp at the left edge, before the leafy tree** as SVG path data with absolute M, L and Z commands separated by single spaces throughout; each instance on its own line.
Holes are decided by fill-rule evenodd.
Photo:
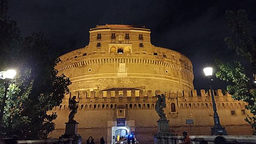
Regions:
M 5 87 L 3 103 L 1 105 L 1 110 L 0 110 L 0 128 L 1 129 L 3 127 L 3 110 L 4 110 L 4 106 L 5 106 L 5 101 L 6 101 L 7 89 L 9 87 L 10 80 L 13 79 L 15 77 L 15 75 L 16 75 L 15 70 L 7 70 L 7 71 L 0 72 L 0 79 L 4 79 L 3 85 Z

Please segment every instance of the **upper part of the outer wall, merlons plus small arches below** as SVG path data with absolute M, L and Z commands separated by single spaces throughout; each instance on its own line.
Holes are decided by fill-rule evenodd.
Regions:
M 113 91 L 115 90 L 115 91 Z M 122 90 L 122 91 L 120 91 Z M 198 90 L 199 91 L 199 90 Z M 119 105 L 128 110 L 154 110 L 157 94 L 165 93 L 166 110 L 169 113 L 177 113 L 179 109 L 212 109 L 210 90 L 183 90 L 181 92 L 161 92 L 160 90 L 143 90 L 141 88 L 108 88 L 106 90 L 95 91 L 71 91 L 65 96 L 62 104 L 54 110 L 68 110 L 68 99 L 75 95 L 80 100 L 79 110 L 116 110 Z M 144 95 L 146 94 L 146 95 Z M 246 102 L 235 101 L 225 90 L 214 90 L 215 102 L 218 109 L 235 110 L 242 109 L 246 114 Z M 174 105 L 174 106 L 172 106 Z

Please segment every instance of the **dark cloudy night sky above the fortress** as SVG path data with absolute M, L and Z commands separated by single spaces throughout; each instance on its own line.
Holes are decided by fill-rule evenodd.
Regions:
M 153 45 L 189 57 L 195 89 L 209 89 L 204 65 L 216 68 L 215 59 L 237 59 L 224 43 L 231 35 L 227 9 L 245 9 L 256 29 L 256 0 L 9 0 L 8 16 L 23 36 L 43 31 L 56 56 L 87 45 L 89 28 L 96 25 L 145 25 Z M 226 85 L 216 80 L 213 88 Z

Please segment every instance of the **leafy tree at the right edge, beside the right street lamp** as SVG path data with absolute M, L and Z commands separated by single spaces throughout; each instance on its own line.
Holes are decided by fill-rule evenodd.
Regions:
M 256 37 L 250 28 L 250 23 L 245 10 L 226 11 L 226 19 L 235 36 L 226 37 L 225 42 L 229 48 L 234 49 L 236 54 L 243 57 L 252 67 L 252 72 L 256 73 Z M 216 76 L 224 81 L 231 82 L 227 86 L 227 91 L 235 100 L 243 100 L 248 105 L 245 107 L 253 114 L 252 117 L 247 116 L 245 121 L 251 124 L 256 130 L 256 84 L 252 82 L 241 61 L 233 63 L 223 63 L 217 61 L 220 71 Z M 249 72 L 250 73 L 250 72 Z

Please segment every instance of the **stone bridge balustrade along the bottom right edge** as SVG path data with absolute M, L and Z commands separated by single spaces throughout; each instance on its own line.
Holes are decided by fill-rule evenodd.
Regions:
M 215 144 L 217 136 L 189 136 L 192 144 Z M 223 136 L 227 144 L 256 144 L 256 136 Z M 154 136 L 154 144 L 179 144 L 183 136 Z

